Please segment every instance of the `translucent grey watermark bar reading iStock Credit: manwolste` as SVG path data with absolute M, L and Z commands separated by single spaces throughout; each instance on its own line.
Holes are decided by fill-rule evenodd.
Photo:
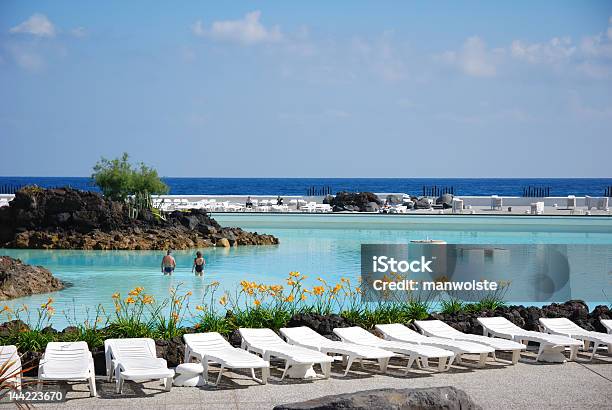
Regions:
M 361 279 L 365 302 L 445 294 L 474 302 L 610 302 L 612 246 L 364 244 Z

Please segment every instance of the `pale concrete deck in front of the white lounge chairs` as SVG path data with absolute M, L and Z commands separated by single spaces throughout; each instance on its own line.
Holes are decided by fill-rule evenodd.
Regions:
M 593 363 L 533 364 L 533 353 L 523 355 L 517 365 L 489 359 L 483 369 L 454 366 L 446 373 L 413 370 L 408 376 L 381 375 L 367 364 L 366 370 L 339 377 L 335 363 L 329 380 L 279 381 L 272 370 L 267 385 L 252 381 L 246 373 L 231 373 L 218 388 L 173 387 L 165 392 L 159 382 L 126 382 L 124 393 L 114 392 L 114 383 L 98 378 L 98 397 L 88 397 L 86 384 L 62 384 L 68 388 L 67 402 L 37 404 L 36 408 L 71 409 L 271 409 L 282 403 L 377 388 L 455 386 L 465 390 L 484 409 L 612 408 L 612 356 L 601 355 Z M 583 356 L 584 358 L 584 356 Z M 405 361 L 394 359 L 390 369 L 400 372 Z M 211 374 L 211 378 L 214 374 Z M 4 405 L 8 406 L 8 405 Z

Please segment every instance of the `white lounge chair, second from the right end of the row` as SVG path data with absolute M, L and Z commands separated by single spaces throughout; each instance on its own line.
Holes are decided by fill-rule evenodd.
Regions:
M 501 337 L 519 343 L 538 343 L 540 349 L 536 361 L 563 363 L 563 351 L 566 347 L 570 348 L 570 360 L 576 360 L 578 348 L 582 345 L 580 341 L 569 337 L 522 329 L 504 317 L 479 317 L 477 320 L 482 325 L 485 336 Z

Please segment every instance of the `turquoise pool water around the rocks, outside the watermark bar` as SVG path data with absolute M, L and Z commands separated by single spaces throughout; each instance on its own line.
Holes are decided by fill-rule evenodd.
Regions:
M 232 290 L 243 279 L 269 284 L 283 283 L 290 271 L 300 271 L 313 281 L 317 276 L 332 281 L 341 276 L 357 278 L 362 243 L 407 243 L 413 239 L 433 238 L 448 243 L 612 246 L 611 218 L 601 218 L 599 221 L 598 218 L 565 218 L 559 223 L 550 223 L 550 219 L 545 218 L 531 218 L 526 222 L 524 219 L 516 219 L 521 221 L 520 224 L 513 223 L 508 217 L 488 218 L 484 221 L 482 218 L 471 221 L 463 218 L 460 223 L 446 218 L 435 219 L 438 222 L 443 219 L 442 223 L 417 218 L 413 221 L 400 220 L 392 227 L 388 226 L 393 222 L 391 218 L 374 219 L 367 223 L 356 223 L 340 216 L 319 216 L 317 220 L 324 218 L 320 223 L 314 219 L 304 222 L 303 218 L 296 222 L 282 215 L 251 217 L 250 220 L 242 218 L 218 217 L 222 224 L 274 234 L 280 238 L 280 245 L 202 249 L 207 261 L 203 279 L 191 273 L 194 253 L 191 251 L 175 252 L 178 266 L 172 277 L 160 273 L 163 252 L 159 251 L 3 249 L 0 254 L 20 258 L 29 264 L 43 265 L 61 280 L 72 284 L 51 295 L 57 309 L 53 325 L 61 328 L 68 324 L 62 311 L 71 312 L 70 316 L 75 312 L 78 320 L 84 320 L 87 316 L 86 307 L 95 310 L 98 304 L 102 304 L 110 312 L 111 295 L 117 291 L 126 294 L 136 286 L 143 286 L 147 293 L 163 298 L 171 286 L 182 284 L 182 289 L 193 292 L 192 304 L 195 306 L 201 301 L 204 284 L 215 280 Z M 501 223 L 497 223 L 502 219 Z M 280 228 L 283 224 L 292 227 Z M 308 225 L 315 228 L 308 228 Z M 612 296 L 612 292 L 609 295 Z M 7 304 L 11 307 L 22 304 L 35 306 L 44 303 L 48 297 L 49 294 L 35 295 L 11 300 Z

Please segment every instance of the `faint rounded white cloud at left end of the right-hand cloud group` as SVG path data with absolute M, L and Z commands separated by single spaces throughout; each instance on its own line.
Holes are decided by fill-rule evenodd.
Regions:
M 473 36 L 463 43 L 461 50 L 442 54 L 441 60 L 458 66 L 465 74 L 473 77 L 494 77 L 502 53 L 501 49 L 488 50 L 480 37 Z

